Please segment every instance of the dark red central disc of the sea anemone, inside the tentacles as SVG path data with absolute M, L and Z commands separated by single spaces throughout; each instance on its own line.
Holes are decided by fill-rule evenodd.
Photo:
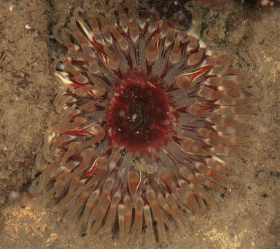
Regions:
M 165 145 L 172 130 L 170 104 L 161 87 L 130 78 L 114 91 L 108 111 L 110 140 L 128 151 Z

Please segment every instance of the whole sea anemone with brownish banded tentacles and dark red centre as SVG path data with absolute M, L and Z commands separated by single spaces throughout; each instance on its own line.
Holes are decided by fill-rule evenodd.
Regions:
M 121 238 L 162 237 L 186 212 L 202 214 L 208 189 L 223 192 L 233 172 L 223 158 L 248 142 L 246 82 L 199 39 L 197 7 L 184 6 L 188 29 L 137 8 L 94 1 L 54 28 L 68 51 L 32 172 L 82 230 Z

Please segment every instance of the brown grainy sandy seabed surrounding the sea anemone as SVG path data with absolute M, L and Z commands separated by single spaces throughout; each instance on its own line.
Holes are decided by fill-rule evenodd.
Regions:
M 0 0 L 0 248 L 280 248 L 280 8 L 203 10 L 210 47 L 252 80 L 254 142 L 246 158 L 230 158 L 237 174 L 225 194 L 212 193 L 217 208 L 189 216 L 170 241 L 121 244 L 110 235 L 81 237 L 75 224 L 25 194 L 54 111 L 50 58 L 61 46 L 50 39 L 52 27 L 82 1 L 69 0 L 68 10 L 60 2 Z

